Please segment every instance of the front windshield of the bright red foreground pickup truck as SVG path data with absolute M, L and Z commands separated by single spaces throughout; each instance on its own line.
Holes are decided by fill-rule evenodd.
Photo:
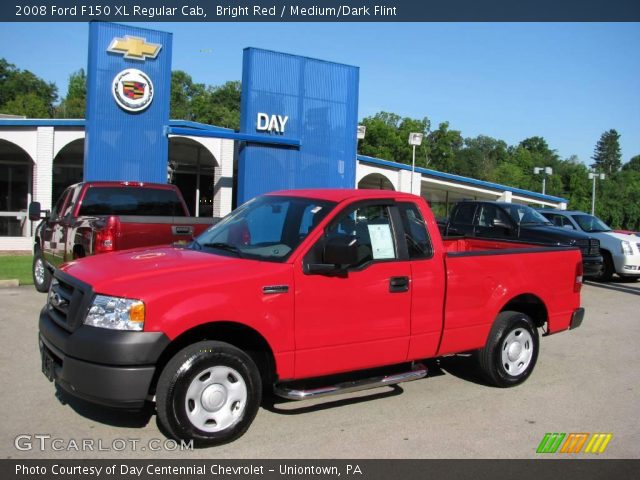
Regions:
M 334 206 L 333 202 L 309 198 L 256 197 L 196 238 L 189 248 L 281 262 Z

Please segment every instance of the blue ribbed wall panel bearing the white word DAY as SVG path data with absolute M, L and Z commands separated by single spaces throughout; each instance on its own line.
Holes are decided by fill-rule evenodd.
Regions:
M 292 188 L 353 188 L 359 69 L 256 48 L 244 50 L 240 131 L 300 140 L 299 148 L 247 143 L 238 204 Z M 258 114 L 288 116 L 284 132 L 259 131 Z

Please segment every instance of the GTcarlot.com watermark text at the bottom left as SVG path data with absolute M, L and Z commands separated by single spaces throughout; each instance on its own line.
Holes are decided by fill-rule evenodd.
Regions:
M 60 438 L 44 433 L 18 435 L 13 445 L 21 452 L 183 452 L 193 450 L 193 440 L 176 441 L 168 438 Z

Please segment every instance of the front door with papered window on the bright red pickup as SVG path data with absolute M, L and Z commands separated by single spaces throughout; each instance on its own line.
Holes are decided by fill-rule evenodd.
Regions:
M 398 224 L 393 202 L 346 207 L 297 266 L 296 377 L 406 360 L 411 266 L 399 252 Z M 305 273 L 305 265 L 323 263 L 324 243 L 340 236 L 358 242 L 357 262 L 340 274 Z

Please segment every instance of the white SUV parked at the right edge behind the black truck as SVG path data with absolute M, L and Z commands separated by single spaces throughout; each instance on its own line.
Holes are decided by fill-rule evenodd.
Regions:
M 609 281 L 614 273 L 620 277 L 640 278 L 640 237 L 614 232 L 598 217 L 584 212 L 539 210 L 558 227 L 578 230 L 600 240 L 604 269 L 600 280 Z

